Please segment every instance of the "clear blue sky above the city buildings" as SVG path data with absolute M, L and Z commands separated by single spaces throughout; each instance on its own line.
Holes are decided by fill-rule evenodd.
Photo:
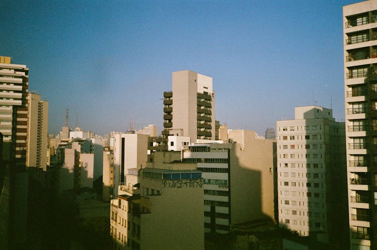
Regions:
M 155 124 L 171 72 L 213 77 L 216 120 L 264 135 L 313 103 L 344 120 L 342 6 L 359 1 L 0 3 L 0 55 L 29 67 L 49 133 Z

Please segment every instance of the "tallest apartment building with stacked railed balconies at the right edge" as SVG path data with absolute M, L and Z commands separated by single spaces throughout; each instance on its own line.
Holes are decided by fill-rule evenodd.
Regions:
M 343 7 L 351 249 L 377 249 L 377 1 Z

